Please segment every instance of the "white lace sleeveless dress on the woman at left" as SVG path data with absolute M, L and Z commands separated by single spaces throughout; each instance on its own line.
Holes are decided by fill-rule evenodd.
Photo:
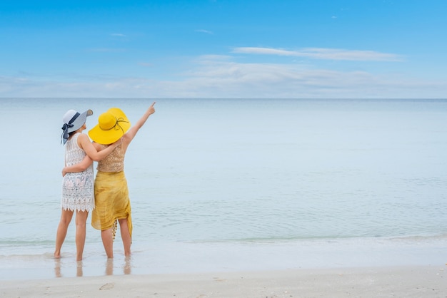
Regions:
M 73 135 L 65 144 L 65 163 L 67 166 L 76 165 L 86 156 L 84 150 L 79 148 L 78 137 Z M 66 173 L 62 180 L 61 207 L 71 211 L 94 210 L 94 174 L 93 164 L 84 172 Z

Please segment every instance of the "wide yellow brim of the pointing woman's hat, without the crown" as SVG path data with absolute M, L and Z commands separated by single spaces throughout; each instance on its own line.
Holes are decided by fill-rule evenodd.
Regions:
M 103 130 L 98 123 L 94 128 L 89 130 L 89 137 L 91 140 L 103 145 L 115 143 L 127 132 L 127 130 L 129 130 L 129 128 L 131 128 L 129 119 L 119 108 L 110 108 L 107 112 L 114 115 L 117 119 L 116 126 L 109 130 Z

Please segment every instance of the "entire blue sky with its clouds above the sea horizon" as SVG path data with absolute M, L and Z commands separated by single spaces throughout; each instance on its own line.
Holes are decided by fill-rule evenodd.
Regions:
M 447 98 L 445 0 L 1 1 L 0 97 Z

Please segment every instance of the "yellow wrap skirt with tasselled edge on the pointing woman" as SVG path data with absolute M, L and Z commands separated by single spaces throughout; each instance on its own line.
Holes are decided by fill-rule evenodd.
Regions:
M 95 209 L 91 214 L 92 227 L 96 230 L 112 228 L 115 237 L 118 220 L 125 218 L 132 237 L 131 201 L 124 171 L 98 171 L 95 178 Z

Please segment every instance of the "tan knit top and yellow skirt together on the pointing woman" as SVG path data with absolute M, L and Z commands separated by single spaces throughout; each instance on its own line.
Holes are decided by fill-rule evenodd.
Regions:
M 124 152 L 121 145 L 98 162 L 94 189 L 95 209 L 91 214 L 92 227 L 96 230 L 112 228 L 115 237 L 118 220 L 127 218 L 132 237 L 131 202 L 124 175 Z

